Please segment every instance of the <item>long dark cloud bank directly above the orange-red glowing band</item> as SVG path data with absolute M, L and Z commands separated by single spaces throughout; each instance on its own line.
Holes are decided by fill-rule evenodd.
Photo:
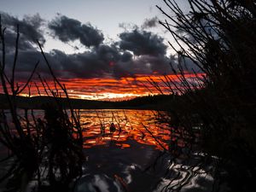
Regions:
M 61 50 L 54 49 L 45 53 L 58 78 L 105 78 L 115 79 L 136 77 L 137 74 L 150 75 L 152 73 L 171 73 L 169 59 L 162 55 L 141 55 L 134 57 L 130 52 L 119 52 L 118 48 L 99 45 L 98 48 L 84 53 L 67 55 Z M 12 66 L 13 54 L 7 55 L 8 68 Z M 49 77 L 42 55 L 37 49 L 21 50 L 18 58 L 17 79 L 26 79 L 32 71 L 36 61 L 40 60 L 38 73 L 46 79 Z

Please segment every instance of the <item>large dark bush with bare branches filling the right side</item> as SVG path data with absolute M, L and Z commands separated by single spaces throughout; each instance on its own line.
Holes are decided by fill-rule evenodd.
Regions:
M 250 191 L 256 176 L 256 3 L 188 0 L 185 12 L 179 1 L 164 2 L 166 8 L 159 9 L 166 20 L 160 24 L 176 42 L 170 43 L 178 58 L 173 72 L 205 74 L 193 81 L 183 75 L 184 89 L 169 79 L 183 95 L 175 102 L 174 131 L 183 127 L 189 135 L 184 140 L 193 145 L 195 124 L 200 125 L 206 160 L 219 158 L 212 173 L 216 183 L 228 183 L 228 191 Z M 221 190 L 217 186 L 212 190 Z

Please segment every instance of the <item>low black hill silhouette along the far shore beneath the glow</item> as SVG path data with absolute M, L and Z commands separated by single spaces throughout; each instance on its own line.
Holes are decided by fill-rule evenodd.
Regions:
M 16 103 L 18 108 L 41 109 L 46 105 L 55 105 L 60 102 L 64 108 L 69 108 L 69 103 L 77 109 L 103 109 L 103 108 L 134 108 L 134 109 L 160 109 L 170 108 L 172 96 L 141 96 L 122 102 L 105 102 L 84 99 L 58 98 L 51 96 L 17 96 Z M 0 108 L 9 108 L 8 100 L 5 95 L 0 94 Z

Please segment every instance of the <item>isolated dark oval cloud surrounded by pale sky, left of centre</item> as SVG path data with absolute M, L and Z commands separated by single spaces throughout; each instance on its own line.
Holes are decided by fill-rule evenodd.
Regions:
M 104 40 L 102 32 L 90 24 L 82 24 L 79 20 L 58 15 L 55 20 L 49 22 L 49 29 L 53 35 L 62 42 L 79 40 L 86 47 L 98 46 Z

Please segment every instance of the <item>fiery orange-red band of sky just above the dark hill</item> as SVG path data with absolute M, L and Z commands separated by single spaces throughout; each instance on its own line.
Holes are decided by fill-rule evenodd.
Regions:
M 185 74 L 188 82 L 196 81 L 199 76 L 203 74 Z M 177 88 L 183 89 L 183 84 L 180 83 L 181 79 L 177 75 L 137 75 L 136 78 L 105 78 L 105 79 L 60 79 L 61 84 L 65 84 L 67 93 L 70 98 L 87 99 L 87 100 L 100 100 L 100 101 L 122 101 L 135 98 L 137 96 L 148 96 L 160 94 L 160 91 L 165 94 L 170 94 L 172 91 L 165 80 L 172 79 L 172 82 L 177 82 L 179 87 L 172 87 L 172 90 L 178 91 Z M 152 82 L 159 84 L 160 90 L 156 89 Z M 20 82 L 20 84 L 24 84 Z M 52 81 L 48 81 L 49 89 L 40 82 L 36 82 L 37 86 L 31 86 L 30 90 L 26 89 L 19 96 L 47 96 L 51 95 L 50 91 L 64 93 L 61 89 L 56 90 L 55 84 Z M 46 89 L 45 89 L 46 88 Z M 45 92 L 45 90 L 47 92 Z M 0 92 L 3 92 L 0 87 Z

